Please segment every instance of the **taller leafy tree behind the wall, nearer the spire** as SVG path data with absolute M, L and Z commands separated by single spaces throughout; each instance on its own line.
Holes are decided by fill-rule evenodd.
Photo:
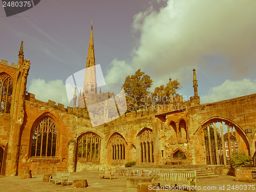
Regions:
M 149 99 L 153 80 L 141 69 L 138 69 L 134 75 L 125 78 L 123 89 L 126 96 L 127 112 L 143 109 L 151 104 Z

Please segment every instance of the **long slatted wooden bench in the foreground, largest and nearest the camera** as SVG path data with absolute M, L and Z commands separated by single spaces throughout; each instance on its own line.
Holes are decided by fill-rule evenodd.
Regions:
M 185 184 L 190 192 L 197 185 L 197 170 L 160 170 L 159 177 L 153 177 L 152 182 L 163 185 Z

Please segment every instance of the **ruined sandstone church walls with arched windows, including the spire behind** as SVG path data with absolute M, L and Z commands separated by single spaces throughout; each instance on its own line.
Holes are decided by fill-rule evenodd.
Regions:
M 89 54 L 94 55 L 93 31 Z M 94 56 L 88 56 L 87 67 L 93 63 Z M 233 151 L 255 151 L 256 94 L 200 104 L 195 71 L 194 96 L 182 109 L 159 105 L 93 127 L 82 108 L 66 109 L 26 94 L 30 61 L 24 60 L 23 44 L 17 64 L 2 60 L 0 66 L 2 174 L 17 175 L 26 168 L 33 174 L 74 172 L 132 160 L 163 164 L 178 155 L 188 164 L 227 164 Z M 96 77 L 90 82 L 84 90 L 96 91 Z

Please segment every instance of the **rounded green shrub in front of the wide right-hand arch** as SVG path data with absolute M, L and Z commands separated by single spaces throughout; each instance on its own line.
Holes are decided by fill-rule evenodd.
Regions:
M 230 159 L 230 165 L 232 167 L 239 167 L 244 165 L 249 165 L 252 162 L 252 157 L 246 155 L 245 153 L 236 153 Z

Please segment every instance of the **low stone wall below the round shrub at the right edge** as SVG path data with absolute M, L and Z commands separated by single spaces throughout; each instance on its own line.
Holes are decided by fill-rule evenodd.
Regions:
M 256 173 L 256 167 L 238 167 L 235 169 L 236 181 L 256 183 L 256 179 L 252 179 L 252 172 Z M 256 174 L 255 174 L 256 176 Z

